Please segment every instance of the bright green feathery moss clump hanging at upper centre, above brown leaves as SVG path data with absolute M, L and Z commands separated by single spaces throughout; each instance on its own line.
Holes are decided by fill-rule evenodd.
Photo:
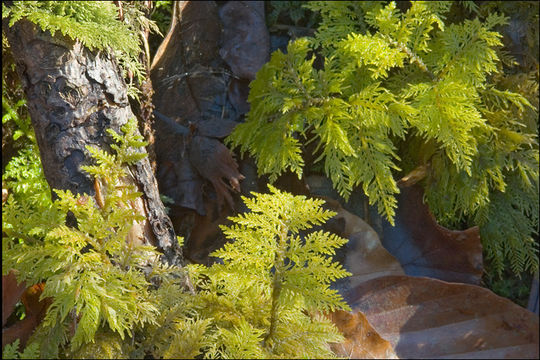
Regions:
M 299 137 L 311 131 L 319 140 L 317 161 L 324 159 L 325 172 L 340 194 L 348 196 L 362 184 L 371 203 L 392 218 L 398 189 L 391 169 L 398 170 L 394 161 L 399 158 L 389 135 L 403 136 L 403 116 L 412 110 L 379 82 L 362 87 L 342 78 L 357 69 L 343 69 L 338 58 L 329 59 L 324 71 L 313 69 L 313 58 L 306 60 L 308 45 L 303 38 L 289 44 L 287 55 L 272 54 L 251 84 L 247 121 L 228 141 L 255 156 L 259 173 L 270 174 L 271 180 L 287 169 L 300 177 Z

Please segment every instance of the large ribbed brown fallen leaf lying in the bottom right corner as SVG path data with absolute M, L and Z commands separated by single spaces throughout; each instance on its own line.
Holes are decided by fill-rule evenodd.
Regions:
M 538 317 L 488 289 L 412 276 L 358 285 L 347 300 L 400 358 L 536 358 Z

